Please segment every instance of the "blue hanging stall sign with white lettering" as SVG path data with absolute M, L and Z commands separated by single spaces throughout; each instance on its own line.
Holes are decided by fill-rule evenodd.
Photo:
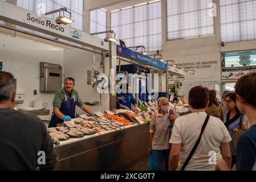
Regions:
M 117 46 L 117 56 L 126 57 L 128 59 L 132 59 L 135 61 L 140 61 L 148 65 L 152 65 L 152 67 L 160 68 L 160 69 L 166 69 L 166 64 L 162 63 L 159 60 L 153 59 L 152 57 L 141 55 L 139 52 L 132 51 L 131 49 L 119 46 Z

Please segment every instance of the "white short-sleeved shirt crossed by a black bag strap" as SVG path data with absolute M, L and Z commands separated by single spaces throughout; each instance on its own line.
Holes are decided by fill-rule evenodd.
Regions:
M 181 169 L 190 151 L 192 151 L 200 135 L 205 118 L 205 112 L 192 113 L 179 117 L 174 122 L 170 143 L 182 143 L 178 169 Z M 224 123 L 220 119 L 211 116 L 197 150 L 194 152 L 185 170 L 215 170 L 216 160 L 222 159 L 221 143 L 228 143 L 230 141 L 231 137 Z M 212 154 L 216 154 L 217 158 L 212 157 Z M 211 162 L 212 160 L 214 162 Z

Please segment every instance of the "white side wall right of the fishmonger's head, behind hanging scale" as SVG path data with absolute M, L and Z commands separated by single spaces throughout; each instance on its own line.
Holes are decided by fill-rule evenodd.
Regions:
M 87 71 L 92 70 L 93 53 L 82 49 L 64 50 L 64 77 L 73 77 L 75 79 L 75 89 L 84 102 L 100 101 L 100 94 L 92 85 L 87 85 Z M 100 68 L 101 55 L 95 55 L 95 69 L 103 72 Z M 107 65 L 105 61 L 105 65 Z M 104 111 L 109 109 L 109 94 L 102 94 L 100 106 L 90 106 L 93 111 Z M 76 108 L 76 113 L 83 113 L 82 109 Z

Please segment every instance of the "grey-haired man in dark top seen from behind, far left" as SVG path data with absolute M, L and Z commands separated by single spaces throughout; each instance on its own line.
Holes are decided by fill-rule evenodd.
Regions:
M 54 169 L 58 156 L 46 126 L 36 115 L 14 110 L 15 91 L 13 75 L 0 72 L 0 170 Z

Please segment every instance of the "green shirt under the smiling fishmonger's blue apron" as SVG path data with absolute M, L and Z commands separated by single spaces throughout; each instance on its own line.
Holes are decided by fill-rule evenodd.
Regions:
M 60 107 L 62 106 L 62 102 L 65 99 L 64 94 L 66 94 L 67 98 L 70 98 L 69 94 L 66 92 L 66 90 L 64 88 L 58 90 L 55 93 L 54 101 L 52 103 L 54 109 L 60 109 Z M 74 98 L 74 96 L 75 96 L 75 100 L 76 100 L 76 105 L 81 107 L 84 104 L 84 102 L 80 99 L 78 92 L 76 92 L 76 90 L 73 89 L 71 92 L 71 98 Z

